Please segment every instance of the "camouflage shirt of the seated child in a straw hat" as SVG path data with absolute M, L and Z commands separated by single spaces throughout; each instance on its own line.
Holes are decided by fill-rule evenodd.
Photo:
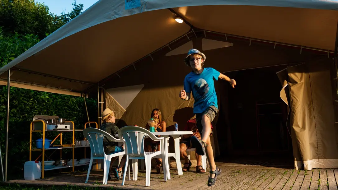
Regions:
M 107 122 L 107 123 L 103 122 L 103 124 L 100 126 L 100 129 L 102 131 L 109 133 L 113 137 L 115 137 L 115 135 L 119 131 L 119 128 L 114 123 L 111 123 L 111 122 Z M 108 140 L 107 137 L 103 138 L 103 148 L 106 154 L 113 153 L 115 151 L 115 146 L 116 146 L 116 142 Z

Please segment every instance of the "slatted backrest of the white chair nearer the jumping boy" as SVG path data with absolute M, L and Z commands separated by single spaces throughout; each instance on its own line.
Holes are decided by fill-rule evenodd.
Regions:
M 122 127 L 119 132 L 119 139 L 125 141 L 125 151 L 129 156 L 144 156 L 144 137 L 147 135 L 152 140 L 160 140 L 150 131 L 137 126 Z

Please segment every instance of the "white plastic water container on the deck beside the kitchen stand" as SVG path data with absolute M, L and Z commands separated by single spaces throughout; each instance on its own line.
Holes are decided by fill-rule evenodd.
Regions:
M 41 162 L 40 161 L 28 161 L 24 165 L 24 178 L 25 180 L 38 180 L 41 178 Z

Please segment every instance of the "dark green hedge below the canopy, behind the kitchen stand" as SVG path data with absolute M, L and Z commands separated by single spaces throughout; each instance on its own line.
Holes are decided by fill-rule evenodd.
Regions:
M 7 86 L 2 86 L 0 90 L 0 143 L 4 158 Z M 75 123 L 75 129 L 83 129 L 84 123 L 88 121 L 83 97 L 11 87 L 9 98 L 8 160 L 11 161 L 8 162 L 7 180 L 23 177 L 24 163 L 29 160 L 29 126 L 35 115 L 57 115 L 60 118 L 71 119 Z M 96 100 L 86 99 L 86 103 L 90 120 L 97 122 Z M 55 133 L 46 133 L 46 138 L 54 139 Z M 81 132 L 76 132 L 75 135 L 75 138 L 82 140 Z M 41 138 L 41 134 L 33 133 L 32 141 L 38 138 Z M 71 133 L 64 133 L 63 144 L 70 142 Z M 71 152 L 71 149 L 63 150 L 63 154 L 67 152 Z M 40 154 L 41 152 L 33 152 L 32 159 L 35 160 Z M 53 156 L 57 157 L 58 152 Z M 39 160 L 41 161 L 41 158 Z

